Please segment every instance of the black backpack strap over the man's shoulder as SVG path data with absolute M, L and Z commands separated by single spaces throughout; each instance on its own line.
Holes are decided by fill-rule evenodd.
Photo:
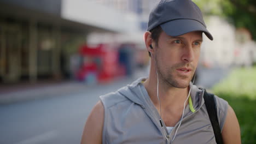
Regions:
M 222 133 L 220 132 L 214 94 L 207 93 L 205 89 L 205 92 L 203 93 L 203 99 L 205 99 L 205 106 L 206 106 L 210 121 L 212 123 L 212 128 L 214 131 L 216 142 L 217 144 L 223 144 Z

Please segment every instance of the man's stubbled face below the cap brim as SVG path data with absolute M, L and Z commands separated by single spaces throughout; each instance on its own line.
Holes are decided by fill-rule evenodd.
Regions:
M 159 79 L 171 87 L 188 87 L 199 61 L 201 43 L 202 32 L 171 37 L 163 31 L 154 49 Z

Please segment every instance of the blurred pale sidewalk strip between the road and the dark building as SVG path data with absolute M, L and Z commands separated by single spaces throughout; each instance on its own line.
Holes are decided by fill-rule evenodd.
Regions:
M 13 104 L 21 101 L 37 100 L 51 97 L 59 97 L 83 93 L 102 86 L 109 85 L 127 85 L 131 82 L 130 79 L 122 77 L 112 80 L 108 83 L 98 85 L 86 85 L 83 82 L 77 81 L 62 81 L 62 82 L 44 82 L 19 84 L 15 86 L 0 87 L 0 105 Z

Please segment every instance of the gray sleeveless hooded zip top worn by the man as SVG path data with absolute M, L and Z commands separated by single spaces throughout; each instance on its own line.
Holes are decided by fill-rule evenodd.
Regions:
M 168 143 L 176 132 L 179 122 L 168 134 L 165 124 L 160 125 L 160 115 L 142 85 L 143 78 L 120 88 L 116 92 L 101 95 L 104 106 L 104 126 L 102 143 Z M 189 105 L 185 107 L 184 118 L 176 138 L 170 143 L 216 143 L 212 125 L 203 100 L 203 91 L 191 85 L 191 101 L 195 111 Z M 220 129 L 226 118 L 228 103 L 215 96 Z

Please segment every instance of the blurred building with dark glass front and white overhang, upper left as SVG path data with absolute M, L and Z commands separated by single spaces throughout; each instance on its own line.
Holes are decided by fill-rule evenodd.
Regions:
M 0 0 L 0 82 L 68 77 L 70 59 L 87 35 L 141 34 L 150 2 Z

